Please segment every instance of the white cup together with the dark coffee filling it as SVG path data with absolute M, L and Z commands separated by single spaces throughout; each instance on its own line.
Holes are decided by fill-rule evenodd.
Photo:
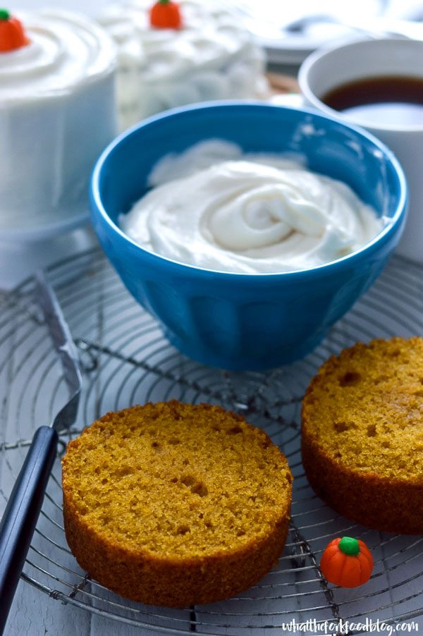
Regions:
M 357 38 L 321 47 L 302 62 L 298 82 L 307 106 L 364 126 L 396 154 L 409 188 L 397 251 L 423 263 L 423 40 Z

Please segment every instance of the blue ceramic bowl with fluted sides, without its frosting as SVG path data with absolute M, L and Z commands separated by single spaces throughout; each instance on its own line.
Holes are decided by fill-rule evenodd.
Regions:
M 211 137 L 250 152 L 299 152 L 388 223 L 351 255 L 282 274 L 229 274 L 147 252 L 120 230 L 118 215 L 146 192 L 158 159 Z M 379 276 L 400 238 L 406 190 L 393 154 L 360 128 L 303 109 L 202 104 L 149 118 L 104 150 L 92 175 L 92 222 L 123 283 L 176 348 L 214 367 L 266 369 L 309 353 Z

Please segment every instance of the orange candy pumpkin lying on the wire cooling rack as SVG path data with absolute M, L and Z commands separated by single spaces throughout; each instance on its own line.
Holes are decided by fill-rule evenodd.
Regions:
M 320 570 L 331 583 L 341 587 L 358 587 L 369 580 L 373 557 L 360 539 L 338 537 L 326 546 Z

